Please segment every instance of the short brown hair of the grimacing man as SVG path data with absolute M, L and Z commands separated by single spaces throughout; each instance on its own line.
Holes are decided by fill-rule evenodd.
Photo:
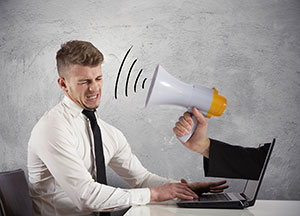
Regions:
M 63 76 L 71 65 L 95 67 L 103 62 L 102 53 L 90 42 L 72 40 L 61 45 L 56 53 L 59 76 Z

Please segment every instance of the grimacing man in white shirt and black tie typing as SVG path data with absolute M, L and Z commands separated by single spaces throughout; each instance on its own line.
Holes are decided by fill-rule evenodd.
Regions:
M 91 43 L 69 41 L 57 52 L 64 99 L 46 112 L 28 143 L 30 192 L 37 215 L 90 215 L 118 206 L 141 205 L 196 193 L 221 192 L 225 181 L 187 184 L 147 171 L 124 135 L 99 118 L 102 53 Z M 132 188 L 106 184 L 110 166 Z M 196 193 L 195 193 L 195 192 Z

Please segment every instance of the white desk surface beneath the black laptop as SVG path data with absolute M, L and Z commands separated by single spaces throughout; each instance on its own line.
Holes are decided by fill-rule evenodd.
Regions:
M 247 209 L 178 208 L 175 202 L 133 206 L 125 216 L 299 216 L 300 201 L 257 200 Z

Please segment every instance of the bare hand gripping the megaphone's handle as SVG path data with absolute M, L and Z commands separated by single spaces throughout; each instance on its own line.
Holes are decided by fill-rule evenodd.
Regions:
M 210 140 L 207 138 L 207 121 L 202 113 L 195 107 L 193 107 L 193 115 L 198 121 L 193 136 L 191 136 L 191 138 L 185 143 L 183 143 L 180 139 L 179 141 L 190 150 L 209 158 Z M 179 118 L 178 122 L 176 122 L 173 132 L 177 138 L 178 136 L 187 135 L 192 129 L 193 124 L 194 121 L 191 117 L 191 113 L 185 112 L 184 115 Z

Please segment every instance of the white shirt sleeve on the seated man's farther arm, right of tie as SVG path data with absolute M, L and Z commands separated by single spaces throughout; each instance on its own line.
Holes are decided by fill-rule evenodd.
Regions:
M 115 129 L 117 150 L 109 166 L 133 188 L 160 187 L 164 184 L 177 182 L 149 172 L 132 153 L 124 135 Z

